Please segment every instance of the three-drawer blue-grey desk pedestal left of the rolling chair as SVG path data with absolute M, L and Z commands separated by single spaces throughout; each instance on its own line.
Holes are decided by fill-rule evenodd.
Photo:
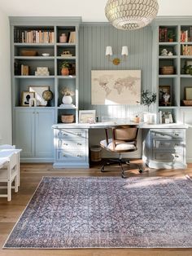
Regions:
M 89 168 L 88 129 L 55 129 L 55 168 Z

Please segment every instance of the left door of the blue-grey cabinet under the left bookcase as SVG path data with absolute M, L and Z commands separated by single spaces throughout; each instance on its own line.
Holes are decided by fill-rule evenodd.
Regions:
M 35 110 L 15 110 L 15 145 L 21 148 L 21 157 L 34 156 Z

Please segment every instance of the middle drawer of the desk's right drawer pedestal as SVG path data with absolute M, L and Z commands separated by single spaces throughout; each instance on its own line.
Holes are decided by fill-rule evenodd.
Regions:
M 183 147 L 181 139 L 168 140 L 168 139 L 153 139 L 153 148 L 155 149 L 175 149 L 181 150 Z

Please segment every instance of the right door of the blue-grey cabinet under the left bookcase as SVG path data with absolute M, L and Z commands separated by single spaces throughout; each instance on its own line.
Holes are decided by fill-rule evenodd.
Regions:
M 36 111 L 36 157 L 54 156 L 54 132 L 51 128 L 55 124 L 54 109 L 37 109 Z

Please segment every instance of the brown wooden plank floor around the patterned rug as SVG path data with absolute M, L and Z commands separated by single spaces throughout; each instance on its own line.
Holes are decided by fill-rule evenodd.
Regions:
M 139 161 L 137 161 L 139 162 Z M 129 170 L 129 176 L 167 176 L 178 177 L 185 174 L 192 177 L 192 164 L 186 170 L 148 170 L 138 174 L 137 170 Z M 112 171 L 101 174 L 100 165 L 90 169 L 54 170 L 51 164 L 22 164 L 21 183 L 18 193 L 12 192 L 12 201 L 0 198 L 0 255 L 1 256 L 31 256 L 34 255 L 65 255 L 65 256 L 185 256 L 192 255 L 192 249 L 2 249 L 2 245 L 14 227 L 16 221 L 30 200 L 37 184 L 43 176 L 120 176 L 116 167 Z M 192 237 L 191 237 L 192 239 Z

